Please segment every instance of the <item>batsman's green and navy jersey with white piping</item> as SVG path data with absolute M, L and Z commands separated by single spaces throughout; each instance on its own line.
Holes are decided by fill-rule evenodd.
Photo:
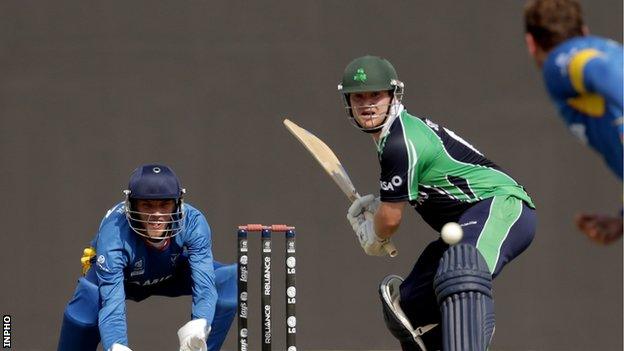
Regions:
M 480 200 L 511 195 L 535 208 L 509 174 L 451 130 L 402 111 L 382 131 L 381 201 L 409 201 L 439 231 Z

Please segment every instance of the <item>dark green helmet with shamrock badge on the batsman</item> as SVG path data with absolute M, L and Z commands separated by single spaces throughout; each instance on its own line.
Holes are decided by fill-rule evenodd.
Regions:
M 342 75 L 342 82 L 338 84 L 347 116 L 351 123 L 366 133 L 380 131 L 392 114 L 392 107 L 399 105 L 403 98 L 403 83 L 398 79 L 396 70 L 392 64 L 381 57 L 366 55 L 351 61 Z M 388 91 L 392 96 L 386 113 L 371 118 L 383 118 L 383 122 L 377 127 L 365 128 L 355 118 L 353 108 L 349 100 L 349 94 L 373 91 Z

